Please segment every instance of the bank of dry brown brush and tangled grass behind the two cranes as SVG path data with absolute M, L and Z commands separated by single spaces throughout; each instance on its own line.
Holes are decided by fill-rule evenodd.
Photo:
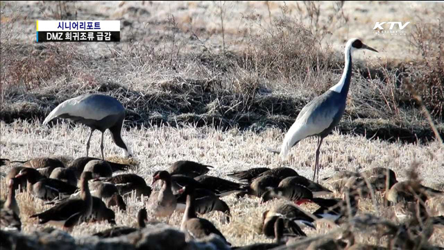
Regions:
M 223 21 L 226 7 L 218 4 Z M 53 15 L 74 11 L 60 6 Z M 341 6 L 336 4 L 338 16 L 329 18 L 347 22 L 339 11 Z M 69 6 L 72 8 L 75 6 Z M 107 45 L 105 54 L 95 53 L 85 44 L 3 43 L 9 39 L 4 34 L 14 31 L 10 22 L 17 21 L 12 18 L 1 23 L 1 119 L 42 120 L 66 99 L 103 92 L 123 102 L 129 126 L 286 129 L 307 101 L 339 79 L 343 67 L 341 53 L 325 47 L 314 35 L 328 30 L 327 26 L 314 29 L 320 23 L 319 7 L 306 3 L 305 8 L 305 18 L 313 24 L 309 29 L 293 19 L 286 6 L 267 25 L 253 14 L 246 15 L 249 28 L 238 49 L 228 41 L 221 50 L 208 46 L 202 32 L 198 35 L 191 29 L 187 33 L 200 47 L 194 51 L 185 49 L 187 41 L 182 37 L 187 33 L 182 33 L 174 15 L 167 19 L 166 35 L 157 41 L 163 47 L 128 40 Z M 223 35 L 226 31 L 222 31 Z M 405 88 L 405 83 L 410 83 L 421 94 L 443 136 L 441 31 L 441 24 L 417 26 L 412 34 L 425 64 L 395 68 L 355 61 L 357 74 L 339 130 L 390 141 L 433 140 L 435 135 L 420 107 Z M 426 40 L 433 42 L 426 46 Z

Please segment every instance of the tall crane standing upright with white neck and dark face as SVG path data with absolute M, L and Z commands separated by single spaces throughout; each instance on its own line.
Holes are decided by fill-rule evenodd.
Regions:
M 375 49 L 363 44 L 361 40 L 352 38 L 345 45 L 345 67 L 339 83 L 327 90 L 321 96 L 316 97 L 300 110 L 296 122 L 291 126 L 280 151 L 280 156 L 285 158 L 291 147 L 298 144 L 302 139 L 310 136 L 318 136 L 318 148 L 316 149 L 316 160 L 314 165 L 313 181 L 318 175 L 319 183 L 319 149 L 323 139 L 339 124 L 345 111 L 350 79 L 352 77 L 352 52 L 357 49 Z

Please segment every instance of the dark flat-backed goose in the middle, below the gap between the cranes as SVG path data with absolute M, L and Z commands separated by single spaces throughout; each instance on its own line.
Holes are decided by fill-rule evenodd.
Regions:
M 207 189 L 212 190 L 219 197 L 225 197 L 236 192 L 246 191 L 247 186 L 241 183 L 234 183 L 215 176 L 197 176 L 196 181 L 202 183 Z

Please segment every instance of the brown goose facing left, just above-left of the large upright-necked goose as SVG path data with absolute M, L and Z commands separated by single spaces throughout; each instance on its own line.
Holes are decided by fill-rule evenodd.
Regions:
M 46 178 L 36 169 L 26 167 L 22 169 L 16 178 L 26 176 L 26 190 L 39 199 L 45 201 L 67 197 L 76 192 L 77 188 L 63 181 Z

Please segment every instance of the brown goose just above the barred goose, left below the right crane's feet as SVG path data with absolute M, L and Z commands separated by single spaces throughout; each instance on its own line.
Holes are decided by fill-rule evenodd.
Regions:
M 262 202 L 269 201 L 273 198 L 286 199 L 300 205 L 313 199 L 313 193 L 299 184 L 289 184 L 280 182 L 278 188 L 267 188 L 268 191 L 262 194 Z

